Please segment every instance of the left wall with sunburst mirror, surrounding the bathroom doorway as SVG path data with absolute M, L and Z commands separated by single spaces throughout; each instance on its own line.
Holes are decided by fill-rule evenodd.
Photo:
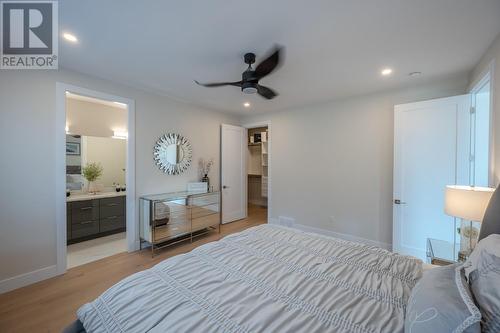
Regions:
M 136 193 L 184 189 L 197 180 L 197 160 L 213 158 L 219 185 L 219 126 L 238 119 L 67 70 L 0 73 L 0 292 L 55 272 L 56 82 L 135 100 Z M 60 129 L 59 129 L 60 130 Z M 153 163 L 153 145 L 174 131 L 193 145 L 193 165 L 180 176 Z M 138 210 L 137 210 L 138 211 Z M 13 279 L 14 278 L 14 279 Z

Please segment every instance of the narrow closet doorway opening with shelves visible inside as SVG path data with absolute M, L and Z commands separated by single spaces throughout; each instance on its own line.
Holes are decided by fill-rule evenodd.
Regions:
M 248 218 L 267 220 L 269 180 L 268 126 L 247 131 L 247 212 Z

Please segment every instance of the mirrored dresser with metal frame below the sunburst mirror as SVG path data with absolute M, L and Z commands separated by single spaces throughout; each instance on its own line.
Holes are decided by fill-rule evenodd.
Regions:
M 163 247 L 217 230 L 220 232 L 220 192 L 172 192 L 140 198 L 140 237 L 151 254 Z

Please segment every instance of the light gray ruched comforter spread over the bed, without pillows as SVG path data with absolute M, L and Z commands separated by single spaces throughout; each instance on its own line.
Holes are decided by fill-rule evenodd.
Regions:
M 421 261 L 262 225 L 165 260 L 78 310 L 87 332 L 403 332 Z

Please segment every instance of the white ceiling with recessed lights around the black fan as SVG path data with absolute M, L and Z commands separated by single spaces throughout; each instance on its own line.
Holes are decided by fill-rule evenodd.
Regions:
M 500 0 L 64 0 L 60 65 L 239 114 L 302 106 L 469 71 L 500 32 Z M 237 87 L 243 54 L 275 43 L 284 65 L 261 81 L 274 100 Z M 394 69 L 390 77 L 380 70 Z M 409 72 L 422 71 L 419 78 Z M 245 109 L 242 104 L 252 105 Z

